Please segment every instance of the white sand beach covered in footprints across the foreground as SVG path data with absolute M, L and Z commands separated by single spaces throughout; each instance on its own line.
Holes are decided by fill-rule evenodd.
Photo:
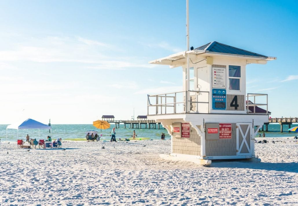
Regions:
M 170 140 L 63 142 L 66 150 L 29 152 L 2 140 L 0 205 L 297 205 L 298 143 L 266 139 L 255 144 L 260 163 L 211 167 L 160 159 Z

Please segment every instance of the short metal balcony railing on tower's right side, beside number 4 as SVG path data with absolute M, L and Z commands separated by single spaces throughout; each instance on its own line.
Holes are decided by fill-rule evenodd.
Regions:
M 256 100 L 256 97 L 258 97 L 258 100 Z M 257 103 L 257 101 L 266 103 Z M 263 108 L 258 106 L 261 106 Z M 246 112 L 248 114 L 268 114 L 268 94 L 247 93 Z

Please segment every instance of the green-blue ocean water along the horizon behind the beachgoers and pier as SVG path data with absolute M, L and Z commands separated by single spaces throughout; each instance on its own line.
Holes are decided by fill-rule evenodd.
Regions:
M 157 125 L 156 125 L 157 126 Z M 293 124 L 291 127 L 298 126 L 298 124 Z M 96 129 L 92 124 L 52 124 L 51 132 L 48 129 L 40 129 L 38 135 L 38 129 L 6 129 L 7 124 L 0 124 L 0 138 L 1 141 L 16 141 L 17 139 L 26 140 L 26 135 L 29 134 L 30 138 L 36 139 L 46 139 L 49 135 L 52 139 L 62 138 L 63 140 L 86 140 L 85 132 L 88 130 L 96 130 L 100 133 L 100 129 Z M 112 128 L 115 127 L 111 124 L 110 129 L 102 130 L 101 140 L 110 140 L 110 132 Z M 145 127 L 142 125 L 142 127 Z M 148 126 L 147 126 L 148 128 Z M 156 127 L 157 128 L 157 127 Z M 162 132 L 165 133 L 166 139 L 170 137 L 167 131 L 160 126 L 161 129 L 132 129 L 124 128 L 123 124 L 120 124 L 120 128 L 116 129 L 116 138 L 131 138 L 133 131 L 136 131 L 137 139 L 160 139 Z M 265 129 L 265 126 L 264 126 Z M 268 132 L 265 132 L 266 137 L 294 137 L 297 132 L 288 132 L 288 125 L 283 126 L 284 132 L 280 132 L 279 124 L 269 124 Z M 258 132 L 263 134 L 263 132 Z M 7 136 L 7 139 L 6 139 Z

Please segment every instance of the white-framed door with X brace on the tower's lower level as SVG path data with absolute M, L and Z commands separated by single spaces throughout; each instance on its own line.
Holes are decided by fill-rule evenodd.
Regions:
M 252 155 L 252 123 L 237 123 L 236 142 L 237 155 Z

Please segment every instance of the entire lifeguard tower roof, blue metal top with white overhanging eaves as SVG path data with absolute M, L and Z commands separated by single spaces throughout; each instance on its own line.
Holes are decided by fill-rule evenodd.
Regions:
M 276 57 L 268 57 L 262 54 L 257 54 L 244 49 L 239 49 L 234 46 L 229 46 L 216 41 L 209 42 L 203 46 L 197 47 L 190 51 L 182 51 L 172 54 L 167 57 L 150 61 L 150 64 L 170 65 L 171 68 L 183 66 L 186 64 L 186 57 L 190 55 L 190 60 L 196 62 L 196 57 L 216 57 L 218 55 L 226 56 L 227 58 L 244 58 L 246 64 L 266 64 L 267 61 L 276 60 Z

